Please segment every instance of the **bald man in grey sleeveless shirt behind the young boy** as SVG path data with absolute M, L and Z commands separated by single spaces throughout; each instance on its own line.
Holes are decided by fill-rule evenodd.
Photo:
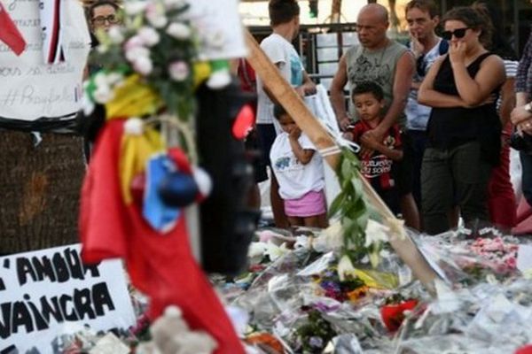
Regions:
M 387 9 L 380 4 L 367 4 L 358 13 L 356 32 L 359 44 L 346 51 L 340 58 L 337 73 L 331 84 L 331 103 L 342 130 L 356 119 L 353 109 L 346 109 L 344 87 L 349 93 L 362 81 L 373 81 L 384 92 L 384 119 L 378 127 L 364 135 L 382 142 L 387 131 L 399 123 L 405 131 L 404 108 L 414 73 L 414 57 L 406 47 L 387 38 L 389 26 Z M 350 97 L 350 95 L 349 95 Z M 351 106 L 351 104 L 349 104 Z M 405 224 L 419 229 L 419 212 L 411 194 L 412 166 L 408 137 L 403 136 L 403 162 L 397 173 L 397 188 L 401 195 L 400 205 Z M 364 145 L 364 150 L 370 150 Z

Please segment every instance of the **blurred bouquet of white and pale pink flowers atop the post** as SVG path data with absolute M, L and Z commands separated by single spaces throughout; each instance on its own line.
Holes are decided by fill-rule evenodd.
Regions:
M 123 91 L 130 103 L 140 101 L 137 112 L 153 113 L 164 106 L 186 120 L 193 112 L 195 86 L 214 72 L 222 74 L 213 75 L 211 85 L 229 84 L 227 61 L 200 61 L 200 45 L 208 43 L 200 42 L 189 7 L 184 0 L 127 2 L 123 26 L 97 33 L 91 62 L 105 63 L 106 69 L 85 85 L 90 103 L 108 104 L 119 98 L 116 88 L 128 85 Z M 135 80 L 124 80 L 130 76 Z

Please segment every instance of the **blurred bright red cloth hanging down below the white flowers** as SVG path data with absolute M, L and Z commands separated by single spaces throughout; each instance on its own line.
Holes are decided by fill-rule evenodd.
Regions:
M 131 282 L 150 296 L 151 319 L 176 304 L 192 329 L 215 338 L 216 354 L 244 353 L 227 313 L 192 257 L 184 216 L 163 235 L 149 227 L 136 204 L 123 203 L 118 174 L 123 123 L 121 119 L 106 123 L 83 182 L 83 260 L 125 258 Z

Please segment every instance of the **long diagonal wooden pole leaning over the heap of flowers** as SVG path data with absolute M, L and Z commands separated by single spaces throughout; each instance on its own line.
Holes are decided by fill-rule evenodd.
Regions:
M 281 76 L 278 68 L 271 63 L 270 58 L 262 51 L 259 44 L 255 41 L 253 35 L 246 30 L 246 45 L 250 50 L 247 61 L 254 68 L 255 73 L 260 76 L 264 86 L 270 90 L 270 93 L 278 100 L 286 112 L 288 112 L 298 127 L 309 136 L 317 150 L 324 150 L 337 146 L 332 137 L 327 133 L 324 127 L 314 117 L 304 104 L 301 97 L 295 92 L 288 82 Z M 340 163 L 340 152 L 325 157 L 325 161 L 337 171 Z M 380 213 L 382 219 L 387 221 L 388 225 L 397 225 L 400 223 L 395 215 L 389 210 L 380 196 L 372 189 L 372 186 L 358 172 L 358 178 L 363 182 L 364 192 L 368 201 Z M 403 227 L 401 227 L 403 228 Z M 403 229 L 399 234 L 404 235 Z M 432 281 L 436 278 L 436 273 L 428 265 L 426 259 L 419 253 L 418 248 L 412 242 L 410 237 L 390 237 L 389 240 L 392 248 L 397 255 L 403 259 L 403 262 L 410 266 L 412 273 L 421 281 L 426 289 L 432 290 Z

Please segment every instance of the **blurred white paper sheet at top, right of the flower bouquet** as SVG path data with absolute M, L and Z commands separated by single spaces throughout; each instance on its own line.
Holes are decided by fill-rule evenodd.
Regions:
M 190 19 L 201 39 L 201 57 L 228 59 L 247 56 L 238 0 L 193 0 L 189 4 Z

